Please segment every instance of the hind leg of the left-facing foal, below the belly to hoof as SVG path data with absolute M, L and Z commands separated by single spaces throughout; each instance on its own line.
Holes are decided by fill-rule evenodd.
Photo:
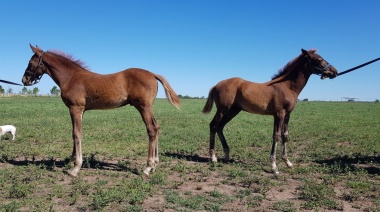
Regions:
M 149 148 L 148 148 L 148 160 L 147 167 L 144 169 L 144 174 L 149 176 L 150 171 L 156 168 L 158 163 L 158 132 L 160 126 L 158 125 L 156 119 L 154 118 L 152 107 L 142 106 L 136 107 L 140 112 L 141 117 L 145 123 L 146 130 L 149 137 Z

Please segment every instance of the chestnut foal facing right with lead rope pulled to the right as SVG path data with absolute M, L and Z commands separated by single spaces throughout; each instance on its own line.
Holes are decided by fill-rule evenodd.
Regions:
M 310 75 L 320 75 L 322 79 L 337 76 L 337 70 L 329 65 L 315 50 L 303 50 L 301 55 L 290 61 L 271 81 L 266 83 L 249 82 L 241 78 L 231 78 L 219 82 L 211 88 L 204 113 L 209 113 L 215 102 L 217 111 L 210 123 L 210 157 L 215 156 L 215 134 L 217 133 L 224 150 L 224 160 L 230 160 L 230 149 L 223 134 L 224 126 L 240 111 L 274 117 L 273 144 L 270 153 L 272 170 L 278 174 L 276 165 L 276 145 L 282 141 L 282 159 L 288 167 L 286 142 L 290 113 L 297 103 L 298 95 L 305 87 Z

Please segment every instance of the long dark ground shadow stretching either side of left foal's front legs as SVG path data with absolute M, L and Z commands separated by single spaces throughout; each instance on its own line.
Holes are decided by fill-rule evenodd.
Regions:
M 36 165 L 41 166 L 41 168 L 56 171 L 55 168 L 65 169 L 70 163 L 69 159 L 28 159 L 24 160 L 19 159 L 7 159 L 6 163 L 12 164 L 14 166 L 28 166 L 28 165 Z M 139 175 L 140 172 L 136 168 L 130 168 L 128 163 L 112 163 L 99 161 L 94 157 L 84 157 L 82 169 L 100 169 L 100 170 L 111 170 L 111 171 L 120 171 L 120 172 L 131 172 L 133 174 Z

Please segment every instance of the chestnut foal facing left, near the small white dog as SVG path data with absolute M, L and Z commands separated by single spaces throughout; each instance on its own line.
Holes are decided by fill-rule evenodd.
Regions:
M 153 102 L 161 82 L 169 102 L 180 106 L 179 98 L 169 83 L 160 75 L 137 68 L 114 74 L 96 74 L 86 70 L 80 61 L 74 61 L 63 53 L 42 51 L 33 47 L 34 55 L 22 78 L 25 86 L 39 82 L 48 74 L 61 89 L 61 98 L 69 108 L 74 141 L 71 161 L 74 168 L 68 173 L 77 176 L 82 166 L 82 116 L 86 110 L 112 109 L 133 105 L 141 114 L 149 136 L 148 162 L 144 173 L 149 175 L 158 164 L 159 125 L 153 114 Z

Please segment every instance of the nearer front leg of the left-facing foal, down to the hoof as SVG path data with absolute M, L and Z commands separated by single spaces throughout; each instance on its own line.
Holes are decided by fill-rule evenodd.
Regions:
M 71 154 L 71 162 L 74 163 L 74 168 L 67 173 L 73 177 L 78 175 L 80 168 L 82 167 L 82 117 L 84 108 L 82 107 L 70 107 L 70 116 L 72 124 L 72 136 L 73 136 L 73 153 Z

